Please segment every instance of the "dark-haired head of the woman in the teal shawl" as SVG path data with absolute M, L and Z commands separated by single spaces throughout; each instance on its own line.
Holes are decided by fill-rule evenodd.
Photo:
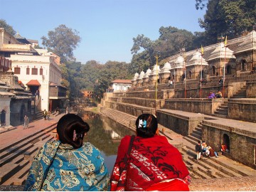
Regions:
M 57 124 L 60 142 L 71 144 L 75 149 L 82 146 L 83 137 L 89 129 L 89 125 L 76 114 L 65 114 Z

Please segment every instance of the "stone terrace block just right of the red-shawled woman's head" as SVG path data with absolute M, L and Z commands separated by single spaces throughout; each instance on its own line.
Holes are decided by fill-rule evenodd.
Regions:
M 203 120 L 203 114 L 181 112 L 176 110 L 157 110 L 159 124 L 183 136 L 188 136 Z

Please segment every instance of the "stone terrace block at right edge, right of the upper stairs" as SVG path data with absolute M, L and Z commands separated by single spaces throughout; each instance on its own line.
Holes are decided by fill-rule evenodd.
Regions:
M 256 122 L 256 98 L 228 100 L 228 118 Z

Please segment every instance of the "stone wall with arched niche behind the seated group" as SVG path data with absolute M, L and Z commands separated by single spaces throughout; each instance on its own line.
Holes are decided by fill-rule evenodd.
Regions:
M 215 151 L 220 151 L 223 135 L 227 134 L 230 139 L 230 151 L 224 154 L 230 159 L 256 169 L 256 133 L 250 132 L 250 128 L 255 127 L 255 124 L 247 122 L 247 126 L 245 126 L 245 122 L 243 124 L 233 124 L 230 120 L 225 119 L 224 122 L 223 120 L 218 122 L 203 120 L 202 126 L 202 140 L 205 140 Z

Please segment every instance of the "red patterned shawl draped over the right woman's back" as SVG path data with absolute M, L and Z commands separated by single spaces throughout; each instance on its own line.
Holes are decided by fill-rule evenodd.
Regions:
M 119 145 L 117 160 L 112 171 L 111 190 L 119 191 L 119 169 L 124 168 L 124 156 L 129 147 L 130 136 L 125 136 Z M 125 191 L 145 191 L 146 188 L 172 178 L 184 179 L 188 169 L 178 149 L 169 144 L 166 137 L 155 135 L 151 138 L 135 137 L 129 156 L 126 179 L 121 178 Z

